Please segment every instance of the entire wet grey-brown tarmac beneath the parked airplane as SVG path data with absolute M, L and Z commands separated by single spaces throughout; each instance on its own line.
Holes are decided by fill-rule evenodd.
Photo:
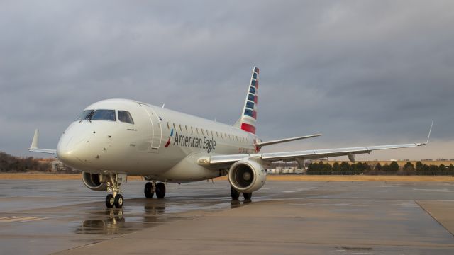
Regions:
M 123 186 L 124 208 L 81 181 L 0 180 L 0 254 L 454 254 L 454 183 L 227 181 Z

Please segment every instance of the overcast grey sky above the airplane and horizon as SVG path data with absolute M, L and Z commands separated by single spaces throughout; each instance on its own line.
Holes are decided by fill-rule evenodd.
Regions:
M 223 123 L 260 68 L 264 151 L 386 145 L 454 158 L 454 1 L 0 1 L 0 151 L 57 147 L 106 98 Z

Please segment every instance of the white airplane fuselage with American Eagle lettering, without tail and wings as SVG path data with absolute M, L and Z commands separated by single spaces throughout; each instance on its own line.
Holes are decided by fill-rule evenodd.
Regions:
M 255 153 L 258 137 L 240 128 L 126 99 L 109 99 L 86 110 L 115 110 L 115 120 L 77 120 L 57 145 L 58 158 L 96 174 L 150 176 L 157 181 L 199 181 L 226 168 L 196 164 L 213 154 Z M 128 111 L 133 123 L 122 122 Z

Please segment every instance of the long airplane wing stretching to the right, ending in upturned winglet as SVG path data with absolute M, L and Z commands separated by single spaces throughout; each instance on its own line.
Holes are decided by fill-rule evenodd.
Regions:
M 432 121 L 433 125 L 433 121 Z M 311 149 L 306 151 L 297 152 L 271 152 L 271 153 L 256 153 L 256 154 L 231 154 L 231 155 L 213 155 L 201 157 L 197 163 L 203 166 L 216 166 L 223 164 L 233 164 L 241 159 L 255 158 L 261 159 L 263 162 L 276 162 L 276 161 L 298 161 L 304 159 L 320 159 L 323 157 L 338 157 L 348 156 L 350 161 L 355 161 L 355 154 L 369 154 L 372 151 L 383 150 L 383 149 L 400 149 L 400 148 L 411 148 L 426 145 L 428 139 L 431 136 L 431 129 L 428 132 L 427 141 L 423 143 L 410 143 L 403 145 L 379 145 L 379 146 L 367 146 L 367 147 L 350 147 L 350 148 L 339 148 L 339 149 Z

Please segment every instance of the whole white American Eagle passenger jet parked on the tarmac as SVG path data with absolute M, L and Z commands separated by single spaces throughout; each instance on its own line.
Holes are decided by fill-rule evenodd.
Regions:
M 380 145 L 295 152 L 260 153 L 264 146 L 318 137 L 321 134 L 262 141 L 257 135 L 259 69 L 253 67 L 239 120 L 226 125 L 194 115 L 128 99 L 107 99 L 82 111 L 63 132 L 57 149 L 38 147 L 38 129 L 29 151 L 56 154 L 67 166 L 82 171 L 82 181 L 93 191 L 104 191 L 107 208 L 122 208 L 121 183 L 128 175 L 143 176 L 146 198 L 165 197 L 165 183 L 183 183 L 228 175 L 231 198 L 265 185 L 272 162 L 366 154 L 382 149 L 426 145 Z

